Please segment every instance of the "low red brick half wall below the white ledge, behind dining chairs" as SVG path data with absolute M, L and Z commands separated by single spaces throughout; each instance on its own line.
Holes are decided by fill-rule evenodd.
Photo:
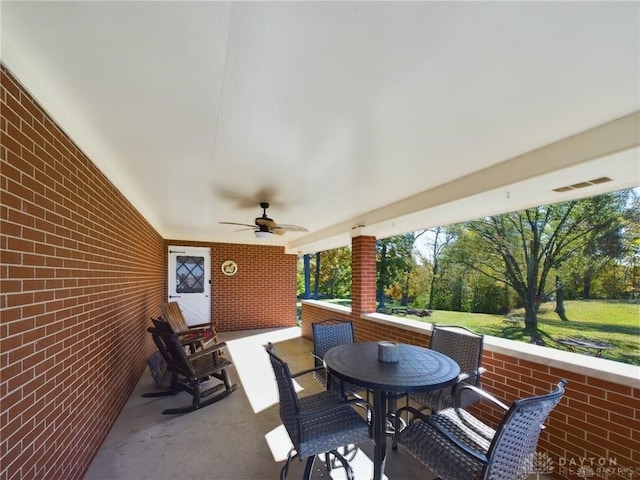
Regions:
M 401 323 L 394 326 L 371 321 L 359 315 L 335 312 L 314 302 L 302 305 L 303 335 L 311 338 L 310 324 L 327 318 L 353 320 L 358 341 L 384 339 L 421 346 L 429 344 L 427 333 L 407 329 Z M 541 352 L 546 350 L 535 348 Z M 513 355 L 498 353 L 486 344 L 482 364 L 487 368 L 482 376 L 484 388 L 507 403 L 547 393 L 561 378 L 569 381 L 565 396 L 551 413 L 538 443 L 538 451 L 546 452 L 553 462 L 554 478 L 607 478 L 606 468 L 612 473 L 608 477 L 611 479 L 640 478 L 640 388 L 574 373 L 571 368 L 542 355 L 537 362 L 518 358 L 515 349 Z M 606 377 L 606 373 L 603 376 Z M 494 426 L 500 419 L 488 408 L 474 411 Z

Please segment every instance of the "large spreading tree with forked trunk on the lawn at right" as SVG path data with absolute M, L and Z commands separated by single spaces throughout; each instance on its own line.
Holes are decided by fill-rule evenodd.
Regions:
M 601 241 L 618 228 L 628 192 L 467 222 L 467 244 L 475 248 L 469 251 L 473 261 L 468 257 L 466 263 L 513 288 L 524 306 L 525 324 L 537 327 L 549 274 L 572 255 L 584 252 L 589 242 Z

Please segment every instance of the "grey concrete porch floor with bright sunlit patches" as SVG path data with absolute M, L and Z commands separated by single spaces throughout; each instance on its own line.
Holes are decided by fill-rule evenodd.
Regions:
M 172 397 L 143 398 L 157 390 L 147 369 L 100 448 L 84 480 L 261 480 L 279 478 L 291 448 L 278 415 L 273 371 L 264 351 L 273 342 L 292 372 L 313 365 L 311 342 L 300 329 L 242 331 L 221 335 L 227 341 L 234 366 L 236 392 L 208 407 L 184 415 L 162 415 L 162 410 L 191 402 L 182 392 Z M 308 377 L 308 378 L 304 378 Z M 299 378 L 301 395 L 321 388 L 311 375 Z M 413 457 L 390 448 L 386 477 L 432 480 L 434 475 Z M 373 443 L 359 446 L 351 462 L 356 479 L 373 473 Z M 320 462 L 316 462 L 316 465 Z M 304 462 L 295 460 L 290 479 L 302 477 Z M 343 469 L 328 476 L 317 469 L 313 478 L 345 478 Z

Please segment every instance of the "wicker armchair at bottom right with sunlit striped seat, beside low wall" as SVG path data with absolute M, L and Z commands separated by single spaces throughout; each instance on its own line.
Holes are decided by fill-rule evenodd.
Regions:
M 455 401 L 465 390 L 506 410 L 496 430 L 463 408 L 450 407 L 424 415 L 412 407 L 415 421 L 394 438 L 439 480 L 523 480 L 534 471 L 535 450 L 543 423 L 564 394 L 566 380 L 546 395 L 507 407 L 473 385 L 458 384 Z

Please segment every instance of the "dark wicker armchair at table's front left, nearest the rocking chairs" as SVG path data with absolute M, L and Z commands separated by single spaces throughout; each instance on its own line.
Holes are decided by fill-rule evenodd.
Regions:
M 280 472 L 281 480 L 287 477 L 291 460 L 298 457 L 307 459 L 304 477 L 310 478 L 317 455 L 333 455 L 344 466 L 347 478 L 353 480 L 353 470 L 338 449 L 354 445 L 372 438 L 371 426 L 354 406 L 364 408 L 373 415 L 371 405 L 362 399 L 345 399 L 334 390 L 298 397 L 293 379 L 309 373 L 310 370 L 291 374 L 289 366 L 277 356 L 272 343 L 266 345 L 278 385 L 280 418 L 284 424 L 293 448 Z M 327 469 L 333 465 L 327 461 Z

